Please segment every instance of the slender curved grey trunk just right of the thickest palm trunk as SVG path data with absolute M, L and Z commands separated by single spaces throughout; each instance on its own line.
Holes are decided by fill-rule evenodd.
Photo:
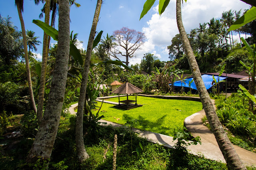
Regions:
M 94 18 L 92 22 L 92 28 L 88 40 L 88 46 L 86 51 L 86 58 L 84 61 L 84 72 L 82 75 L 82 83 L 80 87 L 80 96 L 78 100 L 78 109 L 76 114 L 76 151 L 79 162 L 84 162 L 87 158 L 89 158 L 88 153 L 84 148 L 84 138 L 83 138 L 83 115 L 84 115 L 84 103 L 86 96 L 86 87 L 88 83 L 88 74 L 90 69 L 90 62 L 92 56 L 92 45 L 94 41 L 95 31 L 98 24 L 98 19 L 100 15 L 102 0 L 97 1 L 96 10 L 94 13 Z

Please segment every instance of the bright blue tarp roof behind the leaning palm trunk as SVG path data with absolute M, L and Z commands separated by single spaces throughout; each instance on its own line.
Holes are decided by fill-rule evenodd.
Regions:
M 215 78 L 216 81 L 218 82 L 219 76 L 214 75 L 214 78 Z M 193 78 L 184 79 L 184 80 L 182 81 L 182 87 L 189 87 L 189 82 L 192 81 L 192 79 L 193 79 Z M 212 87 L 212 81 L 213 81 L 212 75 L 204 74 L 204 75 L 202 75 L 202 79 L 203 79 L 203 81 L 204 81 L 204 85 L 205 85 L 206 89 L 207 89 L 207 90 L 210 89 L 210 88 Z M 224 79 L 226 79 L 226 77 L 220 76 L 220 81 L 221 81 L 221 80 L 224 80 Z M 169 85 L 172 85 L 172 84 L 169 84 Z M 179 87 L 181 87 L 181 81 L 176 81 L 176 82 L 174 82 L 174 86 L 179 86 Z M 196 84 L 195 84 L 194 81 L 191 83 L 190 88 L 197 90 Z

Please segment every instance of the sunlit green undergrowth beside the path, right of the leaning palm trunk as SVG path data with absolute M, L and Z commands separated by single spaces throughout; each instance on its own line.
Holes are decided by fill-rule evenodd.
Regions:
M 232 93 L 227 100 L 225 96 L 220 96 L 215 103 L 216 113 L 232 144 L 256 153 L 256 123 L 248 119 L 252 114 L 248 101 L 237 93 Z M 202 122 L 210 129 L 206 116 L 202 118 Z

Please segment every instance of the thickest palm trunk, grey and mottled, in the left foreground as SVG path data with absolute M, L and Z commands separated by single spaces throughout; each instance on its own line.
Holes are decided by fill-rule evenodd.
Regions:
M 60 114 L 62 111 L 68 74 L 70 6 L 68 0 L 60 0 L 59 5 L 59 40 L 52 86 L 44 111 L 44 118 L 42 119 L 34 143 L 26 159 L 27 162 L 35 162 L 38 160 L 38 156 L 41 156 L 40 158 L 50 158 L 60 123 Z

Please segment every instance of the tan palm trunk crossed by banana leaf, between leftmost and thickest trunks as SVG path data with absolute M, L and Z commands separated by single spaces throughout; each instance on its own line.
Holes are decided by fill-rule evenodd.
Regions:
M 45 4 L 45 19 L 44 22 L 49 25 L 50 20 L 50 0 L 46 0 Z M 38 105 L 37 105 L 37 115 L 36 118 L 38 121 L 42 121 L 43 118 L 43 107 L 44 107 L 44 89 L 45 89 L 45 77 L 46 77 L 46 65 L 47 65 L 47 56 L 48 56 L 48 35 L 44 32 L 43 40 L 43 53 L 42 53 L 42 69 L 40 77 L 40 88 L 38 92 Z

